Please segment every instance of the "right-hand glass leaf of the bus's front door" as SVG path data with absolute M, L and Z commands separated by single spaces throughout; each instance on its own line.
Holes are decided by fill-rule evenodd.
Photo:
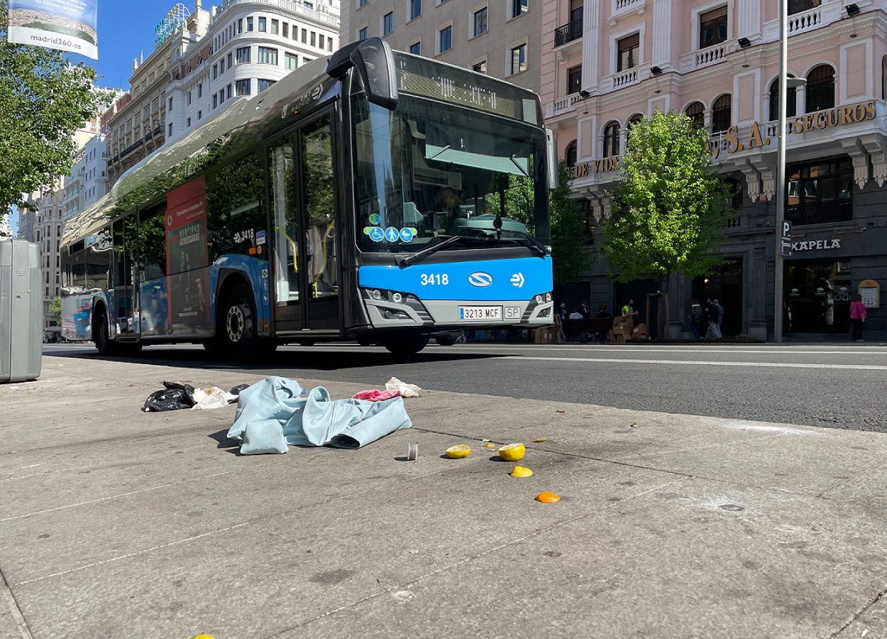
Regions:
M 306 326 L 339 328 L 339 253 L 336 241 L 336 175 L 330 116 L 324 115 L 297 133 L 301 151 L 300 201 L 305 220 L 303 282 Z

